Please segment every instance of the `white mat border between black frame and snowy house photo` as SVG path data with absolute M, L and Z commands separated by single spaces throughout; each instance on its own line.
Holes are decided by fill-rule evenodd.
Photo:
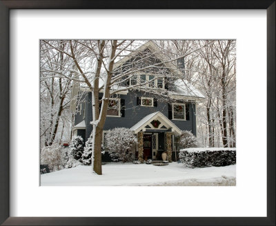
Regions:
M 39 39 L 115 38 L 237 39 L 236 187 L 39 187 Z M 11 216 L 266 216 L 265 10 L 12 10 L 10 63 Z

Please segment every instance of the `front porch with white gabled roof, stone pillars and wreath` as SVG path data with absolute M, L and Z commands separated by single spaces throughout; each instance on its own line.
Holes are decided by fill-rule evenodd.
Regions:
M 137 134 L 135 159 L 141 163 L 151 159 L 162 161 L 161 154 L 166 152 L 166 160 L 172 162 L 172 151 L 175 150 L 175 136 L 181 130 L 161 112 L 155 112 L 141 119 L 131 128 Z

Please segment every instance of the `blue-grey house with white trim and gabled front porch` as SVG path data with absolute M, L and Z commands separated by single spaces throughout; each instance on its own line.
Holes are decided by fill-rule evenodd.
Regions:
M 140 51 L 158 52 L 159 50 L 152 41 L 148 41 L 137 49 Z M 165 59 L 160 53 L 155 54 L 155 62 L 164 62 Z M 116 63 L 116 68 L 124 70 L 124 65 L 129 65 L 133 56 L 125 56 Z M 184 68 L 184 59 L 179 59 L 175 67 L 172 63 L 164 63 L 167 73 L 179 77 Z M 115 68 L 115 69 L 116 69 Z M 183 74 L 182 74 L 183 75 Z M 136 74 L 134 78 L 127 81 L 125 85 L 136 84 L 137 81 L 149 81 L 155 77 L 149 73 Z M 136 80 L 137 79 L 137 80 Z M 181 130 L 189 130 L 196 135 L 196 101 L 204 96 L 184 79 L 161 78 L 148 83 L 155 90 L 163 90 L 171 99 L 160 98 L 158 94 L 152 94 L 139 90 L 121 91 L 110 98 L 108 116 L 103 127 L 104 134 L 115 127 L 127 127 L 137 134 L 138 145 L 135 147 L 136 159 L 140 161 L 149 158 L 160 159 L 161 152 L 168 153 L 168 161 L 175 160 L 177 156 L 175 138 L 181 134 Z M 72 101 L 71 110 L 76 111 L 75 126 L 72 133 L 75 136 L 82 136 L 86 141 L 92 132 L 92 105 L 91 92 L 86 88 L 79 88 L 79 84 L 73 86 L 72 96 L 79 95 L 79 104 L 76 111 L 76 101 Z M 80 96 L 81 94 L 81 96 Z M 100 93 L 100 98 L 102 94 Z M 104 144 L 103 144 L 104 145 Z M 159 152 L 161 151 L 161 152 Z M 103 156 L 103 161 L 108 158 Z

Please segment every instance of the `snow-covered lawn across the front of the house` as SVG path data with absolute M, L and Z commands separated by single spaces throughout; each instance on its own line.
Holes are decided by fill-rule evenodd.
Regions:
M 182 163 L 155 166 L 132 163 L 107 163 L 103 175 L 92 173 L 92 167 L 80 165 L 41 175 L 42 186 L 55 185 L 221 185 L 235 186 L 236 165 L 190 169 Z

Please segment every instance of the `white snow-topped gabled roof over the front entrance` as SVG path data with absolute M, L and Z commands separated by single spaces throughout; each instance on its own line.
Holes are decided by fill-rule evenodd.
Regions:
M 153 120 L 158 120 L 160 122 L 160 125 L 157 128 L 153 127 L 150 124 L 150 122 L 152 122 Z M 148 126 L 148 127 L 146 127 L 146 126 Z M 162 127 L 166 127 L 167 130 L 170 130 L 171 132 L 174 132 L 177 135 L 181 134 L 181 130 L 179 129 L 179 127 L 177 127 L 177 125 L 175 125 L 175 123 L 172 123 L 172 121 L 170 121 L 170 119 L 168 119 L 161 112 L 154 112 L 152 114 L 148 114 L 143 119 L 141 119 L 138 123 L 133 125 L 130 128 L 130 130 L 133 130 L 135 132 L 135 134 L 137 134 L 137 132 L 139 132 L 141 130 L 146 132 L 147 129 L 164 131 L 164 129 Z

